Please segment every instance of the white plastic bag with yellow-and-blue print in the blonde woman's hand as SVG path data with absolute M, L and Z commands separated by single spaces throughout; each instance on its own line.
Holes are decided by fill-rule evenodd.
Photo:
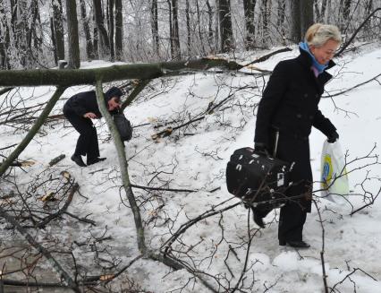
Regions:
M 337 195 L 349 194 L 348 175 L 345 169 L 345 160 L 342 146 L 337 140 L 334 143 L 327 141 L 321 152 L 321 196 L 336 202 Z

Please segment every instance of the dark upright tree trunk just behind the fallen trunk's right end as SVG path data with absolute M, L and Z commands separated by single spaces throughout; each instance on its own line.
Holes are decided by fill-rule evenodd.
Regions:
M 219 0 L 219 26 L 221 51 L 229 52 L 233 48 L 233 29 L 230 0 Z

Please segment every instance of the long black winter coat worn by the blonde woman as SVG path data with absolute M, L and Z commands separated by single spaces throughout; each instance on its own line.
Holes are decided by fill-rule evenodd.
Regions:
M 293 162 L 292 186 L 287 196 L 302 196 L 298 203 L 310 211 L 312 171 L 309 159 L 309 134 L 311 127 L 329 136 L 334 125 L 318 109 L 324 85 L 331 74 L 323 72 L 315 77 L 309 54 L 280 62 L 270 76 L 259 102 L 254 142 L 264 143 L 267 150 L 274 148 L 275 129 L 279 130 L 276 157 Z M 328 68 L 334 66 L 330 62 Z

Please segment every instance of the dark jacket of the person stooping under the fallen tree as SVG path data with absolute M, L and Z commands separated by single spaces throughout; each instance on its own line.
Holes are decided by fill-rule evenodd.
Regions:
M 107 95 L 105 95 L 105 102 L 107 105 Z M 97 94 L 95 90 L 80 92 L 72 98 L 68 99 L 63 106 L 63 113 L 75 114 L 83 116 L 86 113 L 92 112 L 100 118 L 102 114 L 97 107 Z M 117 111 L 111 111 L 110 114 L 114 115 Z

